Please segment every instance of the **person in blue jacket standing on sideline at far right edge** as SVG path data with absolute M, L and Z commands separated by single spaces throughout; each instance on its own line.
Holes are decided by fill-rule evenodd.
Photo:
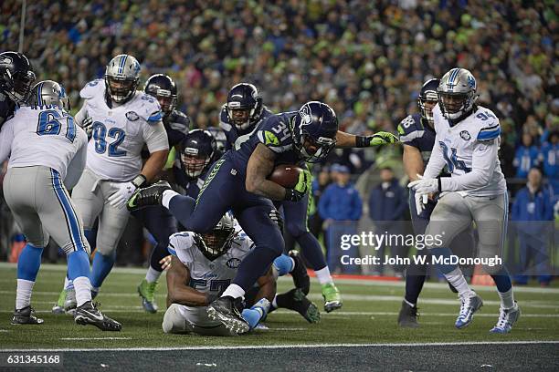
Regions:
M 538 274 L 540 284 L 551 281 L 549 267 L 549 231 L 553 228 L 554 205 L 551 192 L 542 184 L 542 172 L 533 168 L 526 187 L 516 194 L 512 205 L 512 221 L 520 240 L 520 270 L 514 275 L 516 284 L 528 284 L 528 274 Z M 533 264 L 530 270 L 530 263 Z

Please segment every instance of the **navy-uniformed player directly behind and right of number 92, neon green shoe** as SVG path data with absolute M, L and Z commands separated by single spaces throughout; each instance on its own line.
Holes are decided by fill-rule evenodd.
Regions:
M 175 109 L 177 100 L 176 84 L 169 76 L 156 74 L 147 79 L 143 91 L 157 98 L 163 113 L 162 121 L 167 132 L 169 149 L 173 149 L 185 139 L 190 127 L 188 116 Z M 170 151 L 169 156 L 174 156 L 174 151 Z M 144 158 L 143 153 L 142 158 Z M 142 211 L 133 212 L 132 215 L 142 222 L 157 242 L 150 256 L 150 267 L 142 283 L 138 285 L 138 294 L 142 297 L 143 308 L 148 313 L 156 313 L 158 306 L 154 302 L 154 295 L 157 280 L 163 270 L 161 261 L 163 257 L 169 254 L 167 252 L 169 236 L 176 233 L 176 221 L 173 215 L 160 205 L 153 205 Z

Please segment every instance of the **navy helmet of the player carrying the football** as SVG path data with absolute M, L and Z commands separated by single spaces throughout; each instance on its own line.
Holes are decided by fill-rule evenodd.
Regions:
M 334 110 L 325 103 L 305 103 L 290 124 L 293 145 L 307 162 L 325 159 L 336 146 L 338 118 Z

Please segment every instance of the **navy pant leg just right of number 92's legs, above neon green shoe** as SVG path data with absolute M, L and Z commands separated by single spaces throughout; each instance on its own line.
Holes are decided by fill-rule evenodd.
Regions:
M 153 205 L 132 212 L 142 225 L 153 235 L 157 242 L 150 257 L 150 266 L 153 270 L 162 272 L 161 263 L 163 257 L 168 256 L 169 236 L 176 233 L 176 221 L 173 214 L 161 205 Z

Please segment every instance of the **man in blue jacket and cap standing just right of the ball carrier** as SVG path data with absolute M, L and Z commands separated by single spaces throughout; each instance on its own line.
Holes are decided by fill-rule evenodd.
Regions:
M 358 247 L 353 245 L 342 250 L 342 235 L 357 233 L 357 222 L 361 218 L 363 202 L 359 192 L 350 183 L 350 171 L 345 165 L 334 164 L 331 170 L 332 181 L 322 193 L 319 213 L 324 220 L 328 267 L 332 272 L 358 274 L 357 265 L 341 265 L 342 255 L 358 257 Z

